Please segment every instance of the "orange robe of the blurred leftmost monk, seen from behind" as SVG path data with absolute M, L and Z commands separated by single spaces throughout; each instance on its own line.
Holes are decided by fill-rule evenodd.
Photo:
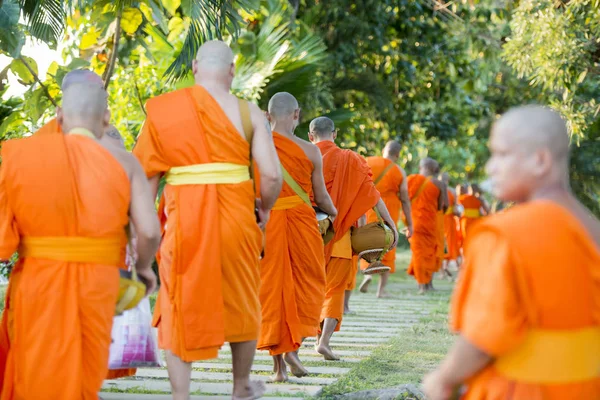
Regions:
M 0 259 L 26 247 L 19 250 L 3 314 L 2 342 L 8 338 L 10 346 L 0 360 L 1 398 L 96 400 L 108 372 L 129 179 L 106 149 L 81 135 L 9 141 L 2 158 Z M 27 242 L 35 237 L 115 244 L 84 254 L 100 261 L 66 262 L 59 261 L 64 254 L 54 253 L 56 260 L 27 257 Z M 86 253 L 85 247 L 79 251 Z

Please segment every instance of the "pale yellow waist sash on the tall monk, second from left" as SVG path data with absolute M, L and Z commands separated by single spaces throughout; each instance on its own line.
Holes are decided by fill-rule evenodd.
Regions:
M 247 165 L 208 163 L 172 167 L 166 175 L 169 185 L 216 185 L 242 183 L 250 179 Z

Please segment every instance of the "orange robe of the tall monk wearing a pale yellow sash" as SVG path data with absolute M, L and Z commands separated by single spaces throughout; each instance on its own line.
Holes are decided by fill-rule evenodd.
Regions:
M 249 167 L 248 142 L 201 86 L 151 99 L 147 112 L 133 153 L 148 177 L 197 164 Z M 262 232 L 252 180 L 166 184 L 163 196 L 159 347 L 192 362 L 217 357 L 224 342 L 256 340 Z

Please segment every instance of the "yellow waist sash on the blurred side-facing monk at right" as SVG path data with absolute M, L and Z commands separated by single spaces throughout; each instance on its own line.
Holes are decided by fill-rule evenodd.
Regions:
M 600 377 L 600 328 L 532 330 L 516 350 L 499 357 L 495 368 L 507 378 L 561 384 Z

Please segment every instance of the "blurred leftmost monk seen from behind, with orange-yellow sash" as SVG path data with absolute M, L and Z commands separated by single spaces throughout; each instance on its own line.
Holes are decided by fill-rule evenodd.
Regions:
M 100 145 L 109 118 L 104 89 L 75 83 L 58 110 L 66 135 L 4 146 L 0 259 L 16 250 L 20 259 L 3 315 L 10 349 L 2 399 L 98 398 L 130 218 L 138 276 L 148 293 L 156 287 L 160 230 L 150 188 L 132 155 Z

